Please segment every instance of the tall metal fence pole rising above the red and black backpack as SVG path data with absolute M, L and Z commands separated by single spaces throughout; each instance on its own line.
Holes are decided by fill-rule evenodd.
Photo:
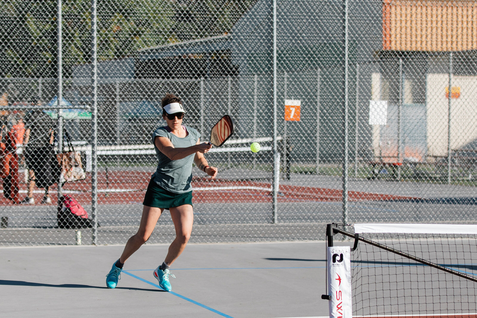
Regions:
M 58 101 L 58 153 L 61 154 L 63 152 L 63 117 L 62 117 L 62 102 L 63 102 L 63 46 L 62 46 L 62 0 L 57 0 L 57 24 L 56 24 L 56 32 L 57 32 L 57 74 L 58 74 L 58 82 L 57 82 L 57 101 Z M 61 197 L 63 196 L 63 189 L 62 183 L 58 177 L 58 206 L 61 204 Z

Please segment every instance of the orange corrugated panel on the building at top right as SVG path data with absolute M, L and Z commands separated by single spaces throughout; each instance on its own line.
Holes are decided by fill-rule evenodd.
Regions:
M 477 49 L 477 1 L 383 0 L 383 49 Z

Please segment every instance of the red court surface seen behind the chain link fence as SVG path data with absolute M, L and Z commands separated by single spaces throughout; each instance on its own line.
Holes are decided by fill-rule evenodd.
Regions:
M 98 204 L 133 204 L 142 203 L 151 173 L 139 171 L 115 171 L 98 174 Z M 192 186 L 194 203 L 267 203 L 272 201 L 271 183 L 255 181 L 231 181 L 207 177 L 193 177 Z M 21 184 L 26 195 L 26 184 Z M 82 204 L 91 203 L 91 176 L 85 180 L 66 183 L 63 186 L 66 194 L 72 195 Z M 36 189 L 34 194 L 37 205 L 41 202 L 42 194 Z M 56 185 L 50 190 L 52 202 L 57 200 Z M 402 195 L 378 194 L 369 192 L 349 191 L 350 201 L 393 201 L 414 200 L 415 197 Z M 278 202 L 339 202 L 342 191 L 319 187 L 280 185 Z M 0 205 L 13 205 L 1 196 Z

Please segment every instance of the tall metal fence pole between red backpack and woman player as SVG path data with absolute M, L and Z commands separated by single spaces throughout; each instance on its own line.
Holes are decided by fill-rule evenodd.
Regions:
M 96 0 L 91 0 L 91 64 L 92 64 L 92 127 L 91 127 L 91 215 L 93 217 L 93 232 L 92 241 L 93 245 L 98 243 L 98 156 L 97 156 L 97 144 L 98 144 L 98 58 L 97 58 L 97 11 Z

